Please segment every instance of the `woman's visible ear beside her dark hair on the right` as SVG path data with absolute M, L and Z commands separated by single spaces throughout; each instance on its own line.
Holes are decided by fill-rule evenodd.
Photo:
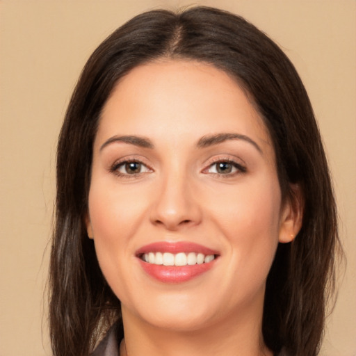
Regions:
M 289 243 L 297 236 L 302 227 L 304 198 L 298 184 L 291 184 L 291 194 L 286 198 L 281 211 L 280 236 L 281 243 Z

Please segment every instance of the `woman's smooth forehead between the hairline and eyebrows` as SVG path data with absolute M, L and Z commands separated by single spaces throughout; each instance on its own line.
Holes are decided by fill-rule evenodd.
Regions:
M 169 134 L 173 143 L 172 136 L 197 140 L 232 131 L 270 145 L 261 116 L 231 76 L 206 63 L 160 60 L 120 79 L 102 111 L 97 140 Z

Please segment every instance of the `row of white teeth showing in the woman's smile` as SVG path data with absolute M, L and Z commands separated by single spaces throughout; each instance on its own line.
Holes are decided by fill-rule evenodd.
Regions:
M 149 264 L 163 264 L 163 266 L 193 266 L 195 264 L 209 264 L 209 262 L 215 259 L 215 256 L 213 254 L 204 255 L 195 252 L 189 252 L 188 254 L 184 252 L 177 254 L 170 252 L 149 252 L 143 254 L 142 259 Z

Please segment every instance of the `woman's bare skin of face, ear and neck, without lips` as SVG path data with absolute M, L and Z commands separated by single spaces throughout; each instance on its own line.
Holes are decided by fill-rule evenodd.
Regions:
M 197 147 L 219 133 L 247 138 Z M 123 135 L 154 147 L 111 142 Z M 193 61 L 136 67 L 108 99 L 93 152 L 87 229 L 122 303 L 121 354 L 272 355 L 261 335 L 266 277 L 300 211 L 282 204 L 270 136 L 236 81 Z M 131 174 L 125 161 L 142 165 Z M 232 171 L 217 173 L 217 161 Z M 219 257 L 193 280 L 163 283 L 136 257 L 157 241 L 199 243 Z

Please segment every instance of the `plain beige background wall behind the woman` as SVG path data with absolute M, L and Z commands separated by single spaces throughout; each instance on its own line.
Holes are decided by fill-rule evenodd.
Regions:
M 81 68 L 133 15 L 193 3 L 245 16 L 282 46 L 305 82 L 332 168 L 348 255 L 321 355 L 356 355 L 356 1 L 8 0 L 0 1 L 1 356 L 51 354 L 42 312 L 56 138 Z

